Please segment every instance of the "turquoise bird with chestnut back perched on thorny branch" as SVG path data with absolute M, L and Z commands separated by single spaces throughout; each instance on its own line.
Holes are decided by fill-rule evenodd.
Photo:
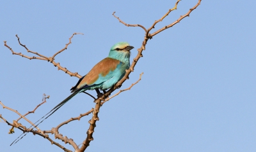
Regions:
M 77 81 L 76 85 L 70 89 L 72 94 L 63 101 L 61 101 L 60 104 L 55 106 L 49 113 L 45 114 L 42 118 L 40 118 L 40 120 L 42 120 L 45 116 L 47 117 L 44 118 L 44 120 L 47 119 L 55 111 L 60 109 L 61 106 L 67 103 L 68 100 L 72 99 L 72 97 L 77 95 L 77 93 L 81 93 L 86 90 L 99 89 L 105 91 L 115 85 L 120 79 L 124 77 L 126 70 L 130 67 L 130 50 L 132 50 L 132 48 L 134 47 L 130 46 L 127 42 L 119 42 L 113 45 L 110 48 L 108 57 L 97 63 L 89 71 L 89 73 L 80 78 L 79 81 Z M 40 123 L 42 123 L 44 120 L 40 121 Z M 38 121 L 36 121 L 35 124 Z M 31 127 L 35 128 L 40 123 L 38 123 L 37 125 L 31 125 Z M 28 132 L 26 134 L 28 134 Z M 24 137 L 24 135 L 22 137 Z M 19 137 L 17 139 L 19 139 Z M 22 139 L 22 137 L 20 137 L 20 139 Z M 15 139 L 15 141 L 17 139 Z M 13 141 L 12 144 L 15 141 Z M 15 143 L 17 143 L 18 141 L 16 141 Z M 12 146 L 12 144 L 10 146 Z

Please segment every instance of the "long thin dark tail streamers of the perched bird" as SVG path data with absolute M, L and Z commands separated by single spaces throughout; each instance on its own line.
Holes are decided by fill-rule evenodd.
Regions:
M 51 109 L 51 111 L 49 112 L 49 113 L 47 113 L 47 114 L 45 114 L 42 118 L 40 118 L 40 120 L 42 120 L 45 116 L 47 116 L 47 117 L 45 117 L 42 121 L 40 121 L 40 120 L 37 120 L 34 124 L 36 124 L 38 121 L 40 121 L 40 123 L 42 123 L 44 120 L 46 120 L 49 116 L 51 116 L 53 113 L 55 113 L 55 111 L 57 111 L 58 109 L 60 109 L 60 107 L 61 106 L 63 106 L 65 103 L 67 103 L 68 102 L 68 100 L 70 100 L 72 97 L 74 97 L 77 93 L 79 93 L 79 91 L 76 91 L 76 92 L 74 92 L 74 93 L 72 93 L 71 95 L 69 95 L 65 100 L 63 100 L 62 102 L 60 102 L 60 104 L 58 104 L 57 106 L 55 106 L 53 109 Z M 38 123 L 37 125 L 31 125 L 31 127 L 29 127 L 29 128 L 32 128 L 32 130 L 35 128 L 35 127 L 37 127 L 40 123 Z M 29 129 L 28 128 L 28 129 Z M 24 135 L 23 135 L 24 134 Z M 15 141 L 13 141 L 12 142 L 12 144 L 14 143 L 14 144 L 16 144 L 20 139 L 22 139 L 25 135 L 27 135 L 28 134 L 28 132 L 26 132 L 26 133 L 22 133 L 20 136 L 22 136 L 22 137 L 17 137 L 17 139 L 15 139 Z M 12 146 L 12 144 L 10 144 L 10 146 Z

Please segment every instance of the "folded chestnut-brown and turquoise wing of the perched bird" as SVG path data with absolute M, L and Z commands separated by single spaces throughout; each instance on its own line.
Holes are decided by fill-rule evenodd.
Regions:
M 115 71 L 116 68 L 119 68 L 120 64 L 122 64 L 120 60 L 109 57 L 101 60 L 88 74 L 79 79 L 76 86 L 71 88 L 72 92 L 76 92 L 77 90 L 82 90 L 84 88 L 90 89 L 90 86 L 92 87 L 99 85 L 100 83 L 104 83 L 104 81 L 108 81 L 113 77 L 113 71 Z

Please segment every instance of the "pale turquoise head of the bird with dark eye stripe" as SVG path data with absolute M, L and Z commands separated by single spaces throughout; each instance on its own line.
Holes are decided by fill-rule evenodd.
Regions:
M 111 47 L 108 57 L 124 62 L 130 59 L 130 50 L 132 48 L 134 47 L 127 42 L 116 43 Z

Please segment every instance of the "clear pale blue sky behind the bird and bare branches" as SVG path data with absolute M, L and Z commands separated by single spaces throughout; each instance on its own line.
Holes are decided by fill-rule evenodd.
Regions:
M 177 20 L 196 0 L 180 1 L 178 10 L 156 25 L 156 30 Z M 0 100 L 38 120 L 70 95 L 77 78 L 58 71 L 49 62 L 12 55 L 31 55 L 19 46 L 15 34 L 30 50 L 51 56 L 68 43 L 56 62 L 84 75 L 119 41 L 139 48 L 144 31 L 127 24 L 150 27 L 175 1 L 3 1 L 0 6 Z M 94 141 L 86 151 L 256 151 L 256 22 L 255 1 L 202 1 L 189 18 L 148 41 L 143 58 L 125 81 L 127 88 L 144 73 L 140 83 L 101 107 Z M 132 50 L 131 60 L 136 57 Z M 90 91 L 95 95 L 94 91 Z M 94 107 L 93 100 L 76 95 L 40 125 L 50 130 L 70 117 Z M 9 121 L 18 118 L 6 109 Z M 83 142 L 91 115 L 60 129 L 61 134 Z M 26 124 L 25 121 L 20 121 Z M 28 134 L 8 134 L 0 122 L 1 151 L 63 151 L 49 141 Z M 58 141 L 60 142 L 60 141 Z M 60 142 L 63 144 L 62 142 Z M 71 146 L 65 145 L 72 149 Z

